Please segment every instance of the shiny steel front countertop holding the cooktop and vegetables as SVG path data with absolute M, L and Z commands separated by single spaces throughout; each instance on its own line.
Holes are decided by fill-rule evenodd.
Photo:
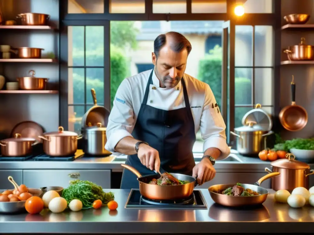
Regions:
M 103 207 L 60 214 L 0 214 L 0 233 L 301 233 L 312 231 L 314 222 L 314 207 L 294 209 L 277 204 L 273 190 L 263 206 L 242 210 L 214 204 L 207 189 L 201 189 L 207 209 L 196 210 L 125 208 L 130 191 L 111 191 L 119 205 L 116 211 Z

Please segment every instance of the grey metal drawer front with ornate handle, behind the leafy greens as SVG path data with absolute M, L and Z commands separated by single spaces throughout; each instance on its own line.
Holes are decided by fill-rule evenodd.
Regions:
M 71 177 L 72 176 L 72 177 Z M 110 188 L 110 170 L 23 170 L 23 184 L 31 188 L 45 186 L 68 187 L 69 180 L 78 177 L 100 185 L 103 189 Z

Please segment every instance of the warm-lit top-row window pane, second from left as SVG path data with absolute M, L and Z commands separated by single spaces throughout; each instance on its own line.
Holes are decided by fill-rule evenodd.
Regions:
M 110 13 L 145 13 L 145 0 L 109 0 Z

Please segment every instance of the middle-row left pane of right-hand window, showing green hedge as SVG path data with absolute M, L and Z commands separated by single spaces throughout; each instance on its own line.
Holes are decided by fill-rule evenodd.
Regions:
M 252 69 L 235 69 L 235 104 L 252 104 Z

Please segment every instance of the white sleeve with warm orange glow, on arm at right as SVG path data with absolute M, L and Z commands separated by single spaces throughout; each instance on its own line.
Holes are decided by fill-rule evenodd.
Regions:
M 229 156 L 230 149 L 226 142 L 226 125 L 219 107 L 215 107 L 215 104 L 216 100 L 213 91 L 206 85 L 204 106 L 200 122 L 201 135 L 205 140 L 203 152 L 208 148 L 217 148 L 221 151 L 217 160 L 222 160 Z

